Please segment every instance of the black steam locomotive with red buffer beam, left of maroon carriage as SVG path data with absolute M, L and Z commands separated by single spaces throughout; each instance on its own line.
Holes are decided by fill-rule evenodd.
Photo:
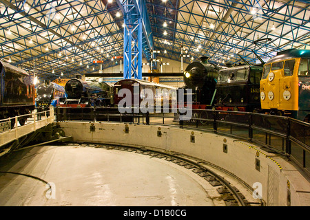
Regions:
M 113 104 L 113 85 L 73 78 L 65 84 L 67 98 L 60 98 L 60 107 L 104 107 Z

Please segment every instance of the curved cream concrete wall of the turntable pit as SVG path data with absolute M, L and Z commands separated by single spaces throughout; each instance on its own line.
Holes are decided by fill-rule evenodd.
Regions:
M 203 159 L 227 170 L 254 189 L 261 184 L 262 199 L 267 206 L 287 206 L 288 194 L 291 206 L 310 205 L 309 181 L 294 166 L 241 140 L 169 126 L 105 122 L 93 126 L 89 122 L 61 122 L 60 126 L 65 135 L 72 135 L 76 142 L 149 147 Z M 161 137 L 158 137 L 158 131 Z M 223 150 L 224 146 L 227 151 Z

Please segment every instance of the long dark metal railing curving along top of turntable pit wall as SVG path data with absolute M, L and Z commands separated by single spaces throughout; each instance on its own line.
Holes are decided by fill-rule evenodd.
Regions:
M 56 108 L 56 121 L 130 122 L 178 126 L 229 135 L 293 160 L 310 177 L 310 124 L 289 117 L 242 111 L 192 109 L 192 118 L 179 120 L 176 111 L 168 113 L 119 113 L 118 108 Z M 136 113 L 135 113 L 136 112 Z M 156 112 L 156 109 L 154 109 Z M 161 111 L 165 112 L 165 111 Z

